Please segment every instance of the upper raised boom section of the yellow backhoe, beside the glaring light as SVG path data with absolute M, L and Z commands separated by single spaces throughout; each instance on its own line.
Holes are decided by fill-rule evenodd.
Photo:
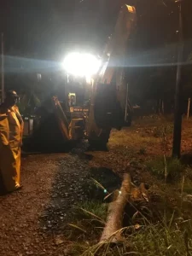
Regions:
M 116 83 L 121 84 L 129 49 L 128 41 L 135 31 L 136 22 L 136 9 L 124 5 L 119 12 L 113 35 L 108 38 L 108 44 L 103 53 L 103 61 L 108 59 L 103 63 L 102 71 L 99 73 L 99 80 L 102 84 L 113 83 L 114 76 Z

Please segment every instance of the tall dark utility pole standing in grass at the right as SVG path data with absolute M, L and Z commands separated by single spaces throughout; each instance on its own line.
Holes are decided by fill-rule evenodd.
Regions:
M 181 156 L 181 133 L 182 133 L 182 63 L 183 63 L 183 17 L 182 17 L 182 0 L 177 0 L 179 12 L 178 28 L 178 56 L 177 56 L 177 79 L 175 90 L 175 113 L 174 113 L 174 131 L 172 144 L 172 157 L 180 158 Z

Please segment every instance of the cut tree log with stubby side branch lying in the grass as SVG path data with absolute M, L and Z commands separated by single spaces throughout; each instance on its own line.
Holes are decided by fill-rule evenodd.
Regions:
M 129 204 L 130 207 L 134 207 L 142 201 L 148 201 L 148 191 L 145 189 L 144 183 L 141 183 L 138 188 L 133 187 L 128 173 L 124 175 L 121 188 L 115 195 L 114 200 L 108 205 L 108 218 L 100 239 L 101 243 L 124 241 L 121 230 L 125 206 Z

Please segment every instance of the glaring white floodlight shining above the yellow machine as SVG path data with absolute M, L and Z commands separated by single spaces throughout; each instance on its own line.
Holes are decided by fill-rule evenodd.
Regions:
M 63 61 L 63 67 L 67 73 L 86 78 L 96 74 L 100 65 L 101 61 L 96 56 L 81 53 L 71 53 Z

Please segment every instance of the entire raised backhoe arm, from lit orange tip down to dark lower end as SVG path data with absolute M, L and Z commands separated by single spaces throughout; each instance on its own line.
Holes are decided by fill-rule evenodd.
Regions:
M 87 123 L 90 143 L 108 143 L 112 128 L 121 129 L 124 125 L 131 125 L 132 108 L 128 99 L 125 70 L 129 58 L 129 40 L 136 25 L 136 9 L 124 5 L 119 11 L 113 35 L 104 49 L 102 67 L 92 85 Z

